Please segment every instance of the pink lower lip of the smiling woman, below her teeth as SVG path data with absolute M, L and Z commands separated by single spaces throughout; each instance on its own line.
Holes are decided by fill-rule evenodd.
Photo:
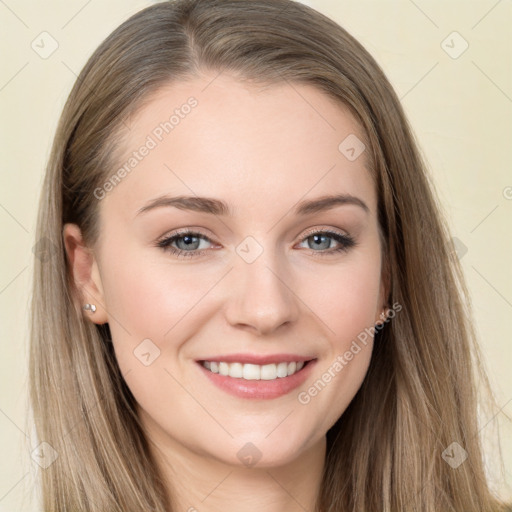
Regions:
M 308 364 L 289 377 L 278 377 L 274 380 L 246 380 L 228 377 L 227 375 L 211 372 L 199 362 L 197 364 L 206 377 L 226 393 L 241 398 L 268 400 L 286 395 L 303 384 L 311 374 L 316 361 L 316 359 L 309 361 Z

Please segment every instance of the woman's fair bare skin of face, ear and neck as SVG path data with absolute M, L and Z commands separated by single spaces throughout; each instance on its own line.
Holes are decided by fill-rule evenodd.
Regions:
M 268 512 L 312 511 L 325 434 L 364 379 L 372 338 L 308 404 L 297 395 L 382 320 L 376 192 L 365 153 L 349 161 L 338 150 L 349 134 L 363 138 L 347 109 L 309 85 L 258 88 L 227 73 L 215 77 L 169 84 L 130 119 L 119 165 L 168 112 L 190 96 L 198 101 L 99 201 L 95 246 L 85 247 L 79 228 L 66 224 L 66 251 L 82 304 L 97 306 L 84 315 L 110 325 L 174 510 L 225 511 L 236 503 L 244 512 L 257 503 Z M 137 215 L 164 193 L 222 199 L 233 216 L 174 207 Z M 293 214 L 297 202 L 335 193 L 360 198 L 369 212 L 345 204 Z M 208 237 L 202 255 L 178 258 L 156 246 L 180 228 Z M 339 242 L 327 235 L 315 243 L 309 234 L 325 229 L 357 245 L 332 252 Z M 263 249 L 250 264 L 236 250 L 248 236 Z M 184 250 L 183 239 L 173 246 Z M 134 355 L 144 339 L 160 350 L 148 366 Z M 239 352 L 318 361 L 291 393 L 244 400 L 213 386 L 195 362 Z M 252 467 L 237 456 L 246 443 L 261 453 Z

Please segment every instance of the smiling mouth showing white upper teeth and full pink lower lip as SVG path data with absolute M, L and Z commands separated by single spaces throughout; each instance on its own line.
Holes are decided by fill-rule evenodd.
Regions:
M 233 357 L 196 361 L 210 383 L 230 395 L 250 399 L 272 399 L 290 393 L 304 383 L 316 362 L 317 359 L 300 356 L 266 364 L 242 362 Z

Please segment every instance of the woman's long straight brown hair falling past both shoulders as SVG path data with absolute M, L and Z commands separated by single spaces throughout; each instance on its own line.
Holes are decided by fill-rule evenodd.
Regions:
M 62 228 L 98 239 L 94 190 L 127 116 L 164 84 L 200 70 L 254 83 L 312 84 L 364 130 L 390 275 L 387 322 L 365 380 L 327 433 L 322 512 L 490 512 L 477 422 L 492 393 L 470 300 L 434 187 L 400 102 L 369 53 L 334 21 L 290 0 L 177 0 L 148 7 L 91 56 L 65 105 L 42 189 L 31 309 L 30 398 L 37 437 L 58 458 L 41 471 L 44 510 L 164 512 L 134 398 L 108 343 L 84 321 Z M 467 452 L 453 468 L 452 443 Z M 52 452 L 53 453 L 53 452 Z

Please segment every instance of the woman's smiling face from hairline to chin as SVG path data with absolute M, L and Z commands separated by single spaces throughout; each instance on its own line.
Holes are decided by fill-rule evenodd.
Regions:
M 160 89 L 128 123 L 83 288 L 148 436 L 274 466 L 321 442 L 366 374 L 377 197 L 345 108 L 214 78 Z

